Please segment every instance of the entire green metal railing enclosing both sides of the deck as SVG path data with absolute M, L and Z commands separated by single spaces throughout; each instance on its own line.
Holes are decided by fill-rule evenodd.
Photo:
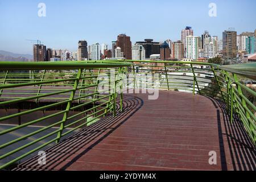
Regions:
M 110 70 L 110 68 L 115 68 L 114 81 L 110 79 L 109 85 L 112 86 L 107 90 L 112 89 L 113 92 L 112 94 L 99 93 L 98 86 L 102 83 L 99 75 L 105 73 L 110 77 L 111 73 L 113 73 L 113 69 Z M 0 62 L 1 70 L 0 99 L 2 102 L 0 102 L 0 107 L 4 108 L 7 105 L 31 100 L 37 104 L 46 101 L 49 104 L 7 116 L 0 116 L 0 122 L 14 117 L 17 118 L 24 114 L 31 114 L 38 110 L 47 110 L 49 107 L 64 105 L 65 109 L 1 131 L 0 136 L 34 125 L 34 123 L 44 122 L 44 120 L 56 117 L 56 115 L 62 114 L 63 117 L 59 122 L 44 126 L 38 131 L 23 135 L 7 143 L 0 143 L 2 144 L 0 146 L 1 150 L 11 144 L 20 142 L 20 140 L 30 138 L 39 132 L 57 126 L 56 131 L 15 150 L 10 150 L 0 156 L 0 160 L 51 135 L 56 134 L 56 137 L 44 142 L 39 146 L 40 148 L 52 142 L 59 142 L 61 137 L 96 121 L 100 117 L 104 117 L 110 112 L 115 115 L 118 87 L 120 89 L 138 88 L 137 90 L 176 90 L 221 100 L 226 104 L 230 121 L 232 122 L 234 114 L 237 114 L 251 141 L 254 144 L 256 143 L 256 92 L 255 87 L 249 87 L 245 84 L 247 80 L 256 79 L 256 64 L 219 66 L 200 62 L 144 60 L 60 61 L 57 63 L 15 64 Z M 18 70 L 23 71 L 17 72 Z M 122 92 L 120 101 L 122 102 Z M 76 105 L 72 105 L 74 103 Z M 84 108 L 85 106 L 86 108 Z M 120 106 L 122 109 L 122 104 Z M 70 112 L 81 108 L 82 110 L 77 111 L 75 114 Z M 68 122 L 69 120 L 72 122 Z M 10 160 L 0 168 L 5 168 L 24 158 L 24 156 L 32 154 L 32 152 L 39 150 L 39 147 Z

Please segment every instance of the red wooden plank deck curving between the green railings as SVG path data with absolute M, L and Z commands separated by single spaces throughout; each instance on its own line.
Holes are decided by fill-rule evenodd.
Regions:
M 16 170 L 255 170 L 256 152 L 225 106 L 190 93 L 126 94 L 124 111 L 46 150 Z M 210 165 L 209 151 L 217 152 Z

